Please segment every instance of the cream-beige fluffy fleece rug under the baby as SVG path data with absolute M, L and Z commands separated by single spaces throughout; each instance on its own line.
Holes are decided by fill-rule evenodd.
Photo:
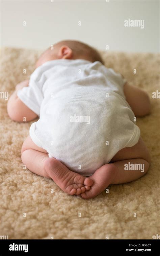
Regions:
M 17 83 L 29 78 L 39 53 L 2 49 L 0 91 L 11 95 Z M 9 239 L 152 239 L 158 233 L 160 99 L 153 99 L 152 92 L 160 89 L 159 55 L 102 55 L 107 67 L 150 95 L 152 114 L 137 120 L 152 157 L 148 173 L 134 182 L 110 185 L 109 193 L 104 191 L 89 201 L 65 194 L 52 180 L 23 169 L 21 146 L 32 122 L 11 121 L 7 101 L 1 96 L 0 235 Z

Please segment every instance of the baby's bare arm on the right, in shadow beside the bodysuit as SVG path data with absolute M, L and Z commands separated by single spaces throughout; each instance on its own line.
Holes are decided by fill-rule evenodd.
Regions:
M 124 93 L 135 116 L 145 116 L 150 114 L 150 99 L 145 91 L 126 83 L 124 85 Z

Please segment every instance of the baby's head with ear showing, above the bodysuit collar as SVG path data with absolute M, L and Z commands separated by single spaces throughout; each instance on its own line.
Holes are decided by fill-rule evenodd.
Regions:
M 96 49 L 79 41 L 65 40 L 56 43 L 54 46 L 44 51 L 35 66 L 37 68 L 47 61 L 58 59 L 84 59 L 91 62 L 100 61 L 104 64 Z

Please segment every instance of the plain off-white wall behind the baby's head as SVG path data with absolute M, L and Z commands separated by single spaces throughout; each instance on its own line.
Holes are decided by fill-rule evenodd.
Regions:
M 1 0 L 1 47 L 43 49 L 75 39 L 102 50 L 159 51 L 159 1 L 52 1 Z M 125 27 L 129 18 L 144 20 L 144 29 Z

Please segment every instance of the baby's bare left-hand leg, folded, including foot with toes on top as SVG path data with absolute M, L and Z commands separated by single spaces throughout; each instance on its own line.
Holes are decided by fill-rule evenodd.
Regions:
M 22 162 L 30 171 L 53 179 L 64 192 L 70 195 L 78 195 L 89 190 L 93 183 L 91 179 L 70 171 L 55 158 L 49 158 L 47 151 L 36 146 L 30 136 L 22 145 Z

